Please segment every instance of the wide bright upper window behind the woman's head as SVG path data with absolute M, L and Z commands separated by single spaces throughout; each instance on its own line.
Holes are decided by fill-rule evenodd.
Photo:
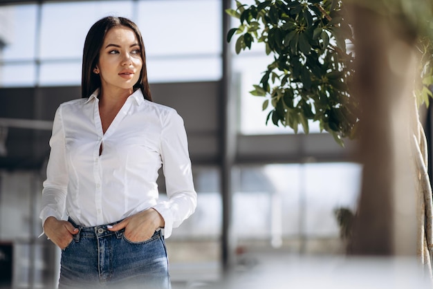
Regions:
M 0 86 L 80 85 L 84 38 L 107 15 L 128 17 L 140 27 L 149 82 L 219 80 L 221 13 L 215 11 L 220 6 L 218 0 L 0 6 L 1 15 L 8 15 L 3 22 L 12 28 L 8 36 L 0 33 L 6 42 Z

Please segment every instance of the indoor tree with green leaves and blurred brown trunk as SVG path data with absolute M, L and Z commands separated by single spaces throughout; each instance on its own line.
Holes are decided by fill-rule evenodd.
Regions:
M 273 106 L 266 122 L 308 133 L 308 120 L 317 121 L 340 145 L 359 137 L 362 192 L 351 252 L 411 254 L 416 239 L 432 277 L 432 190 L 418 115 L 432 96 L 430 2 L 237 1 L 227 12 L 240 23 L 227 37 L 237 36 L 236 53 L 263 42 L 274 56 L 251 91 L 264 97 L 264 109 Z M 405 215 L 412 211 L 417 218 Z

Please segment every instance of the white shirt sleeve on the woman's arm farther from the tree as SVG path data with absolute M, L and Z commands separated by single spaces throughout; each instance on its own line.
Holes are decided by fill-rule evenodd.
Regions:
M 46 218 L 64 216 L 68 174 L 66 171 L 64 127 L 62 124 L 62 106 L 55 113 L 53 133 L 50 138 L 50 157 L 46 169 L 46 180 L 42 189 L 42 208 L 39 218 L 44 225 Z

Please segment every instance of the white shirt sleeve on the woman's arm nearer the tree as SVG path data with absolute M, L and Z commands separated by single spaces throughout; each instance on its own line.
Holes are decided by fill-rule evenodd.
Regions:
M 160 146 L 168 201 L 159 202 L 154 209 L 164 218 L 164 234 L 168 238 L 173 227 L 181 225 L 197 205 L 187 135 L 183 119 L 174 110 L 165 119 Z

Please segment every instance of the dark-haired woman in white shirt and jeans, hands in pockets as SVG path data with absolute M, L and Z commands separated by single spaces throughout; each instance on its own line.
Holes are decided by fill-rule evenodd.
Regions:
M 129 19 L 89 30 L 82 97 L 55 113 L 42 196 L 44 232 L 62 249 L 59 288 L 171 288 L 164 238 L 194 212 L 196 192 L 183 120 L 151 102 Z

